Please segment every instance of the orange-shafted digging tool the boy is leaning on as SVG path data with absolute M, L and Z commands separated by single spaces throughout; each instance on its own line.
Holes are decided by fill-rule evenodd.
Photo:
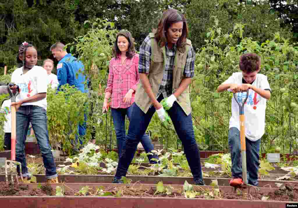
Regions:
M 231 90 L 229 90 L 231 92 Z M 238 101 L 237 93 L 233 93 L 235 101 L 239 105 L 239 114 L 240 114 L 240 144 L 241 144 L 241 162 L 242 162 L 242 179 L 243 185 L 242 187 L 245 188 L 247 185 L 247 169 L 246 169 L 246 143 L 245 143 L 245 126 L 244 126 L 244 104 L 248 98 L 249 90 L 246 91 L 246 97 L 243 98 L 241 96 L 241 100 Z

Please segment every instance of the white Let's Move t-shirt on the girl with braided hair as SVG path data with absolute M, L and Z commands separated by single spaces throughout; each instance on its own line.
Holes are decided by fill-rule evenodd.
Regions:
M 11 82 L 20 87 L 21 92 L 16 97 L 16 101 L 24 100 L 38 93 L 46 93 L 48 74 L 41 66 L 34 66 L 27 73 L 23 74 L 23 67 L 17 68 L 11 75 Z M 23 103 L 24 105 L 35 105 L 46 109 L 46 98 L 36 102 Z

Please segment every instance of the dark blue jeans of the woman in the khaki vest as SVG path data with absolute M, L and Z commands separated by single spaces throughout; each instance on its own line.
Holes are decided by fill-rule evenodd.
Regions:
M 157 101 L 160 102 L 162 99 L 163 96 L 161 95 L 157 98 Z M 131 117 L 128 128 L 125 149 L 122 151 L 115 175 L 115 178 L 118 180 L 121 179 L 122 176 L 126 176 L 128 167 L 134 157 L 136 146 L 138 145 L 141 137 L 144 135 L 150 120 L 156 111 L 154 106 L 151 106 L 147 113 L 144 113 L 135 103 L 132 106 L 133 116 Z M 177 135 L 184 146 L 185 156 L 195 182 L 203 184 L 200 152 L 195 141 L 191 114 L 186 115 L 176 101 L 167 113 L 169 114 Z

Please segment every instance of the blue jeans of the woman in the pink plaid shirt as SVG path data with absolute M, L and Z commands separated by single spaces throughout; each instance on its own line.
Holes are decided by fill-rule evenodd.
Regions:
M 111 115 L 114 121 L 114 127 L 117 137 L 117 147 L 118 147 L 118 156 L 120 158 L 123 147 L 125 146 L 126 134 L 125 134 L 125 115 L 127 115 L 128 120 L 131 121 L 133 106 L 131 105 L 128 108 L 111 108 Z M 144 147 L 146 153 L 151 152 L 154 149 L 153 144 L 149 135 L 144 134 L 141 138 L 142 146 Z M 137 147 L 136 147 L 137 148 Z M 135 149 L 136 151 L 136 149 Z M 152 158 L 158 159 L 156 154 L 147 155 L 150 163 L 156 163 L 156 161 L 151 161 Z

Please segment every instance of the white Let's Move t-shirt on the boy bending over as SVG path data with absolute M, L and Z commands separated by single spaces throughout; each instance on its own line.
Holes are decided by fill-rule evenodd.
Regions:
M 242 72 L 233 73 L 223 84 L 242 84 Z M 251 84 L 262 90 L 268 89 L 271 91 L 270 85 L 267 80 L 267 76 L 263 74 L 257 74 L 257 78 Z M 246 92 L 237 93 L 236 97 L 242 99 L 246 97 Z M 259 140 L 265 133 L 265 110 L 266 110 L 266 98 L 262 98 L 258 93 L 253 90 L 249 90 L 249 96 L 244 104 L 244 126 L 245 137 L 251 141 Z M 232 98 L 232 116 L 229 122 L 229 129 L 236 127 L 240 131 L 239 121 L 239 106 Z

